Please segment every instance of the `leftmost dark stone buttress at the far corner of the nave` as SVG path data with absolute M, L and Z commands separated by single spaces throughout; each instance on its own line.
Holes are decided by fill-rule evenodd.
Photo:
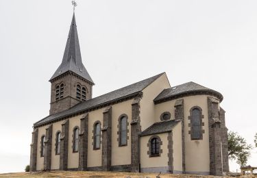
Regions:
M 30 164 L 29 171 L 36 171 L 36 157 L 38 153 L 38 129 L 32 132 L 32 144 L 30 144 Z

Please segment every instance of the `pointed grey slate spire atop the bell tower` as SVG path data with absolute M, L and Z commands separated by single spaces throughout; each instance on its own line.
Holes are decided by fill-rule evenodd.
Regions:
M 68 40 L 66 42 L 65 51 L 62 58 L 62 64 L 60 64 L 56 72 L 51 77 L 50 81 L 52 81 L 56 77 L 59 77 L 60 75 L 68 71 L 71 71 L 76 75 L 83 77 L 90 83 L 94 84 L 93 80 L 88 74 L 88 71 L 86 71 L 86 68 L 82 63 L 82 57 L 81 57 L 80 47 L 79 47 L 79 38 L 77 36 L 77 25 L 76 25 L 74 13 L 71 21 L 71 28 L 69 31 Z

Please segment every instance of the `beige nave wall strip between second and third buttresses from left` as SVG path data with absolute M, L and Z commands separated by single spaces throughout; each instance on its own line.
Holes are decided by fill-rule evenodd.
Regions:
M 52 150 L 51 150 L 51 170 L 60 168 L 60 155 L 56 155 L 56 133 L 60 131 L 62 133 L 62 123 L 53 123 L 53 135 L 52 135 Z

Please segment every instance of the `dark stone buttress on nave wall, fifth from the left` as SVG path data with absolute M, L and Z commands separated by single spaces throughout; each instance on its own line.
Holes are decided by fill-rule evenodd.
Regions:
M 112 166 L 112 107 L 103 111 L 102 131 L 102 166 L 103 171 L 110 171 Z

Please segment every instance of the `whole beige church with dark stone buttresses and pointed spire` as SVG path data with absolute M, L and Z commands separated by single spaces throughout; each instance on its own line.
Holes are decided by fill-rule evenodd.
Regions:
M 51 79 L 49 116 L 33 125 L 30 171 L 222 175 L 229 171 L 221 93 L 160 73 L 92 97 L 75 14 Z

